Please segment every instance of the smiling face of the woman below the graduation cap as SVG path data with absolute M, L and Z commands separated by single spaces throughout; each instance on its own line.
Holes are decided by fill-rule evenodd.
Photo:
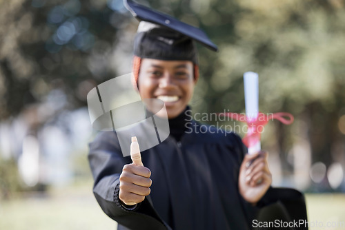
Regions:
M 175 118 L 184 111 L 196 83 L 191 61 L 157 59 L 141 61 L 138 81 L 141 98 L 164 101 L 168 118 Z

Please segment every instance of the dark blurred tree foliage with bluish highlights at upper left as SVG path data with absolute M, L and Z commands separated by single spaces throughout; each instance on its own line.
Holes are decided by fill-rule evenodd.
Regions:
M 88 91 L 113 76 L 106 52 L 122 19 L 110 21 L 106 1 L 0 1 L 0 9 L 0 118 L 57 88 L 85 105 Z M 103 65 L 90 70 L 92 58 Z

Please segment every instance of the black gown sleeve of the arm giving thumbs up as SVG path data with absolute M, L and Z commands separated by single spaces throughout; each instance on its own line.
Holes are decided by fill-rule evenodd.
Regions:
M 128 229 L 169 229 L 159 218 L 150 202 L 150 196 L 128 210 L 119 202 L 119 176 L 124 165 L 131 163 L 123 157 L 114 132 L 101 132 L 90 143 L 88 160 L 95 180 L 93 193 L 101 209 L 112 220 Z

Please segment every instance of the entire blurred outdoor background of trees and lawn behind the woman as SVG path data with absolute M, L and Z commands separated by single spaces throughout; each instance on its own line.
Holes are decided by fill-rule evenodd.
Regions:
M 218 45 L 199 46 L 193 112 L 244 112 L 259 74 L 260 111 L 295 116 L 262 134 L 273 185 L 345 229 L 345 1 L 137 1 Z M 86 96 L 131 71 L 137 25 L 121 0 L 0 0 L 0 229 L 115 229 L 92 195 Z

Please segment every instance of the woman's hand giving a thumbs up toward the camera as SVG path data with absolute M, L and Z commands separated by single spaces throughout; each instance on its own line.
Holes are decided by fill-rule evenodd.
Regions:
M 132 163 L 124 165 L 120 175 L 119 199 L 125 205 L 136 205 L 150 194 L 151 171 L 141 162 L 141 154 L 137 138 L 132 137 L 130 144 Z

